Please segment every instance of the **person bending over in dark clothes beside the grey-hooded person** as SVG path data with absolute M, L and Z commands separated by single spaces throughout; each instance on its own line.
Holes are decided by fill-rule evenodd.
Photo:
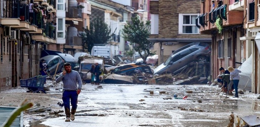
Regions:
M 231 95 L 232 91 L 234 90 L 234 86 L 232 85 L 231 89 L 227 88 L 228 87 L 227 85 L 230 83 L 230 74 L 221 74 L 221 75 L 218 75 L 218 78 L 223 80 L 223 85 L 221 87 L 223 92 L 227 93 L 227 91 L 228 91 L 228 93 Z

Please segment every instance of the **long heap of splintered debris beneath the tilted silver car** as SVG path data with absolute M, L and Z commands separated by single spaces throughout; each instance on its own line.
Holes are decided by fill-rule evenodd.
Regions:
M 187 67 L 182 69 L 178 74 L 161 74 L 152 75 L 145 72 L 134 73 L 133 76 L 128 75 L 115 75 L 107 74 L 104 76 L 106 83 L 109 81 L 120 81 L 123 84 L 173 84 L 173 85 L 183 85 L 183 84 L 194 84 L 208 82 L 208 63 L 190 63 Z M 124 77 L 122 77 L 124 76 Z M 127 82 L 126 82 L 127 81 Z M 116 84 L 116 82 L 113 82 Z

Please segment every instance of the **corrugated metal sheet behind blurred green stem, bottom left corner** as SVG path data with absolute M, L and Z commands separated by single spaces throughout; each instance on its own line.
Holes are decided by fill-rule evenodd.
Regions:
M 5 120 L 7 120 L 8 117 L 11 116 L 13 110 L 15 110 L 17 107 L 5 107 L 0 106 L 0 126 L 3 126 Z M 10 127 L 23 127 L 23 112 L 21 112 L 21 115 L 17 116 Z

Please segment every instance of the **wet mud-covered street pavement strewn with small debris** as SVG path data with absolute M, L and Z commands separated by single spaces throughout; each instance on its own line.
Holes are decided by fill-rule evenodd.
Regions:
M 219 92 L 217 86 L 208 85 L 118 85 L 85 84 L 78 98 L 77 114 L 98 114 L 99 116 L 76 116 L 74 121 L 65 122 L 65 117 L 45 117 L 38 120 L 39 126 L 50 127 L 224 127 L 227 126 L 231 111 L 239 117 L 256 114 L 260 116 L 258 95 L 245 92 L 239 98 L 227 95 L 214 95 Z M 61 94 L 53 91 L 47 94 Z M 186 93 L 187 90 L 193 93 Z M 154 91 L 154 94 L 150 94 Z M 166 91 L 166 94 L 159 94 Z M 174 99 L 191 96 L 187 100 Z M 146 97 L 145 97 L 146 96 Z M 200 99 L 196 99 L 196 98 Z M 202 97 L 202 98 L 201 98 Z M 165 98 L 172 98 L 164 100 Z M 144 101 L 139 101 L 143 99 Z M 198 100 L 202 102 L 199 103 Z M 189 110 L 189 109 L 197 110 Z M 63 109 L 63 107 L 61 108 Z M 64 110 L 64 109 L 63 109 Z M 61 113 L 62 114 L 62 113 Z M 64 114 L 64 113 L 63 113 Z M 30 123 L 31 126 L 36 124 Z

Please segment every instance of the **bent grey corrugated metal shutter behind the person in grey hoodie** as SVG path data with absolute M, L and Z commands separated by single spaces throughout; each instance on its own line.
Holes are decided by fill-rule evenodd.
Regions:
M 253 56 L 251 54 L 251 56 L 238 67 L 241 71 L 241 73 L 239 73 L 241 76 L 238 83 L 239 89 L 252 91 L 252 58 Z

